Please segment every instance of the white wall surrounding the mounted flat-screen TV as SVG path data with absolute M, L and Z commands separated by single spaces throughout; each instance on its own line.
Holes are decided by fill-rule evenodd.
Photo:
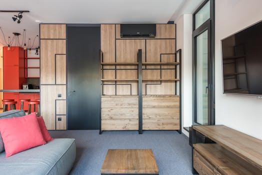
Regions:
M 262 99 L 222 93 L 220 40 L 262 19 L 262 0 L 215 1 L 215 124 L 262 139 Z

